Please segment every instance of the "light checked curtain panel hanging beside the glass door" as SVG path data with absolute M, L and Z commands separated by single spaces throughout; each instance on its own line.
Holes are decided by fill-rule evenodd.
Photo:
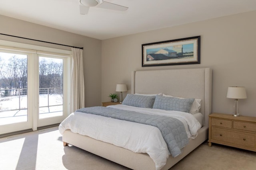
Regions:
M 83 50 L 72 48 L 70 113 L 84 107 Z

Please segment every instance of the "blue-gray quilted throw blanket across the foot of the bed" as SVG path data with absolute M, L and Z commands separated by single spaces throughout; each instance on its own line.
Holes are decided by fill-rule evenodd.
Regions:
M 173 117 L 150 115 L 102 106 L 85 107 L 76 111 L 158 127 L 173 157 L 178 156 L 181 153 L 180 149 L 188 144 L 188 136 L 183 123 Z

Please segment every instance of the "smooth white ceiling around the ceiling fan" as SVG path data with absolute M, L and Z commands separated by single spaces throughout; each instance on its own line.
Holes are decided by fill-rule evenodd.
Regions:
M 256 0 L 106 1 L 129 9 L 80 15 L 79 0 L 0 0 L 0 15 L 102 40 L 256 10 Z

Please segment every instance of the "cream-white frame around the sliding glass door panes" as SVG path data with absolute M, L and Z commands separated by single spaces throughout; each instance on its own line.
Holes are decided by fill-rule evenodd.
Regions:
M 0 40 L 0 51 L 8 51 L 9 53 L 20 53 L 28 55 L 28 101 L 31 101 L 32 104 L 28 105 L 28 112 L 36 113 L 28 115 L 28 125 L 24 126 L 19 130 L 32 129 L 36 131 L 38 127 L 46 125 L 45 123 L 40 123 L 39 121 L 39 55 L 40 56 L 52 56 L 54 58 L 62 58 L 63 59 L 63 74 L 65 79 L 65 86 L 63 85 L 63 92 L 65 92 L 65 100 L 63 100 L 63 119 L 65 119 L 69 115 L 70 111 L 70 80 L 71 80 L 71 70 L 72 70 L 72 52 L 71 50 L 63 50 L 56 49 L 50 47 L 43 47 L 37 45 L 30 45 L 25 43 L 17 43 L 12 41 Z M 65 67 L 66 69 L 64 69 Z M 37 81 L 34 81 L 37 80 Z M 64 81 L 64 80 L 63 80 Z M 29 90 L 29 88 L 33 87 Z M 63 94 L 64 95 L 64 94 Z M 28 102 L 29 103 L 29 102 Z M 48 122 L 48 125 L 56 123 L 56 121 L 43 121 Z M 60 123 L 60 122 L 58 122 Z M 18 123 L 22 124 L 22 123 Z M 25 123 L 26 124 L 26 123 Z M 6 126 L 4 129 L 8 129 L 10 126 L 16 126 L 16 123 L 8 124 L 8 125 L 0 125 Z M 28 128 L 29 127 L 29 128 Z M 12 129 L 12 128 L 10 128 Z M 18 130 L 18 131 L 19 131 Z M 5 131 L 4 133 L 10 133 L 13 131 Z

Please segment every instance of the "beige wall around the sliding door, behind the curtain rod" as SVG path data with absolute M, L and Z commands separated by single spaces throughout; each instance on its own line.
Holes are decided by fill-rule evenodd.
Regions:
M 84 78 L 85 78 L 85 105 L 100 106 L 101 105 L 101 40 L 45 27 L 42 25 L 16 20 L 0 15 L 0 33 L 26 37 L 30 39 L 38 39 L 75 47 L 84 47 Z M 61 45 L 52 45 L 49 43 L 40 43 L 38 41 L 25 40 L 20 38 L 0 35 L 0 39 L 6 41 L 14 41 L 19 43 L 27 43 L 33 45 L 41 45 L 58 49 L 71 50 L 70 47 Z

